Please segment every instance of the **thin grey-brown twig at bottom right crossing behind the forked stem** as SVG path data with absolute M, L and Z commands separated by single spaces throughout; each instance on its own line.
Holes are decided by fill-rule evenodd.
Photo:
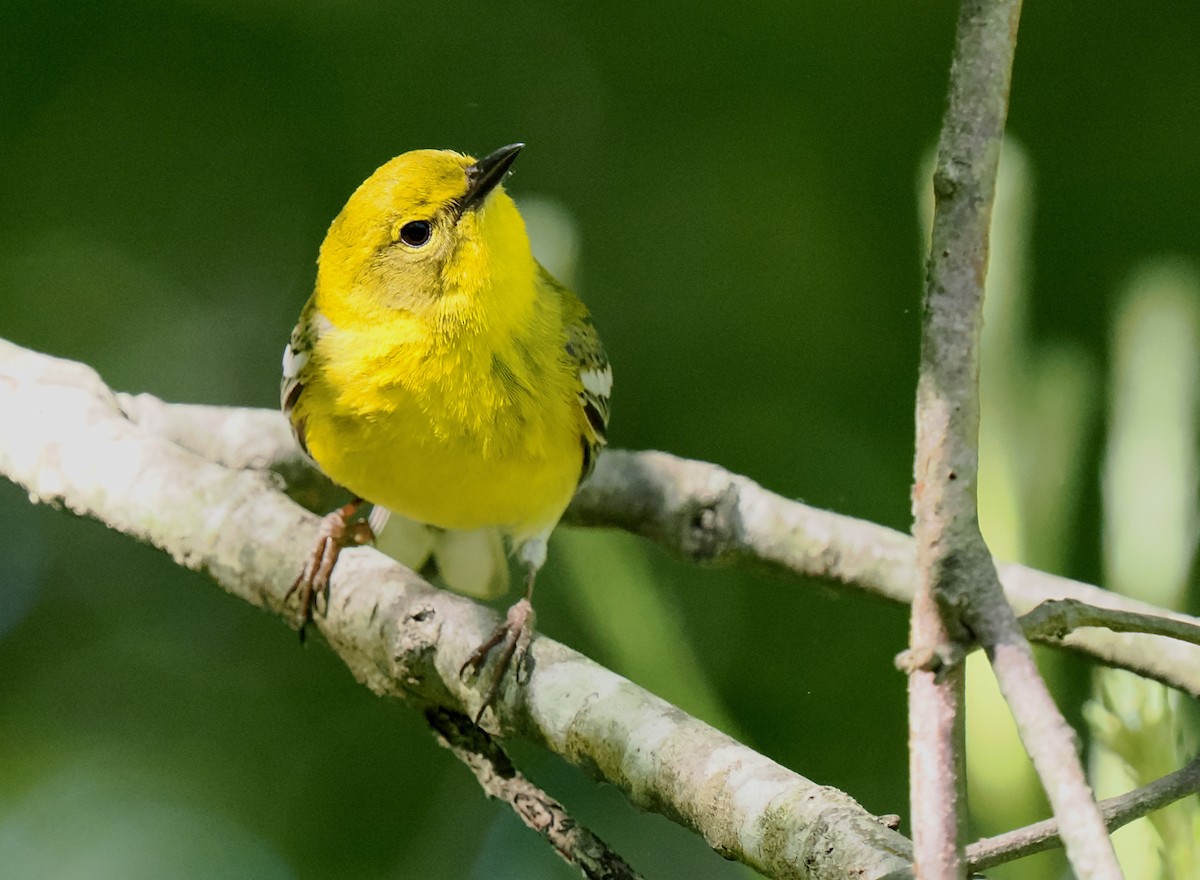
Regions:
M 1100 814 L 1109 831 L 1116 831 L 1134 819 L 1180 801 L 1200 791 L 1200 758 L 1184 767 L 1156 779 L 1140 789 L 1099 802 Z M 1062 846 L 1058 821 L 1045 821 L 1016 828 L 996 837 L 988 837 L 967 846 L 971 870 L 986 870 L 1004 862 L 1012 862 L 1034 852 Z

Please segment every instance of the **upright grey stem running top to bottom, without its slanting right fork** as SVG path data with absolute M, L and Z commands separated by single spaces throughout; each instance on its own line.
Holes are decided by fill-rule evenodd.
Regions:
M 1007 42 L 991 35 L 1006 13 L 1013 34 Z M 954 609 L 955 597 L 986 588 L 989 569 L 1000 593 L 976 504 L 978 352 L 995 172 L 1019 14 L 1020 0 L 962 0 L 934 173 L 912 490 L 919 581 L 910 649 L 901 664 L 908 672 L 908 784 L 916 872 L 922 880 L 966 875 L 966 672 L 960 663 L 938 662 L 937 655 L 971 641 Z M 1008 611 L 1007 603 L 1004 607 Z

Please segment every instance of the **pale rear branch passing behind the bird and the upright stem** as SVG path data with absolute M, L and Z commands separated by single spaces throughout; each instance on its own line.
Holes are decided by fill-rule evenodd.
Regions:
M 310 510 L 344 501 L 305 459 L 278 409 L 166 403 L 148 394 L 116 395 L 139 427 L 234 469 L 274 471 Z M 788 579 L 821 577 L 847 589 L 911 603 L 917 581 L 913 539 L 886 526 L 802 504 L 707 461 L 668 453 L 608 449 L 575 497 L 566 522 L 622 528 L 692 562 L 749 568 Z M 1015 563 L 1000 579 L 1021 613 L 1056 598 L 1164 617 L 1200 619 Z M 1200 648 L 1156 635 L 1081 629 L 1061 641 L 1110 666 L 1200 698 Z

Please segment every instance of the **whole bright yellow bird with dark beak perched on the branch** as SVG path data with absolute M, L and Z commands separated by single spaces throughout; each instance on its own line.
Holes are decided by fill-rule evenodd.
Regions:
M 520 675 L 534 579 L 605 444 L 612 389 L 587 309 L 534 259 L 502 186 L 522 148 L 415 150 L 376 170 L 330 226 L 283 352 L 296 441 L 355 496 L 325 517 L 288 594 L 301 636 L 338 551 L 372 540 L 386 511 L 402 562 L 432 557 L 475 594 L 506 587 L 508 538 L 526 591 L 463 664 L 478 672 L 502 646 L 476 722 L 514 660 Z M 352 520 L 364 501 L 370 523 Z

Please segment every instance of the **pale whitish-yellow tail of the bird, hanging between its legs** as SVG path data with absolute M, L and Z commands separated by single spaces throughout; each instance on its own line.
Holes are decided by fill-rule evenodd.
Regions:
M 509 589 L 509 562 L 499 529 L 437 528 L 376 507 L 368 517 L 376 549 L 414 571 L 432 561 L 442 581 L 460 593 L 490 599 Z

